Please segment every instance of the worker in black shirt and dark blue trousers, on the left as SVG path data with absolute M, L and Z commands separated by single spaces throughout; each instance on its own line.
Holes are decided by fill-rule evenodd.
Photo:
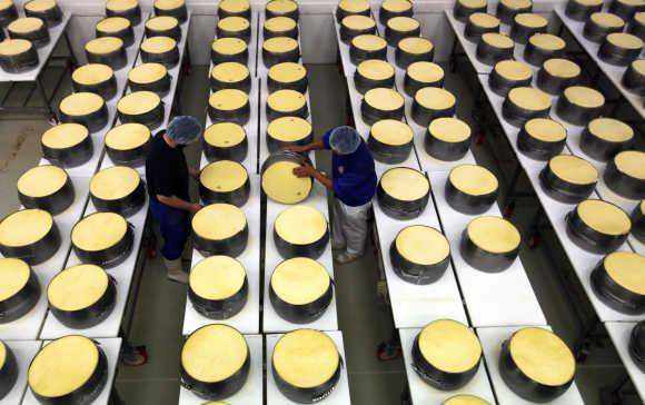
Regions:
M 146 158 L 150 211 L 163 237 L 163 264 L 168 278 L 178 283 L 188 281 L 181 255 L 190 234 L 190 214 L 201 209 L 201 205 L 190 201 L 189 177 L 198 178 L 199 171 L 188 166 L 183 148 L 196 141 L 201 130 L 195 117 L 176 117 L 166 130 L 155 135 Z

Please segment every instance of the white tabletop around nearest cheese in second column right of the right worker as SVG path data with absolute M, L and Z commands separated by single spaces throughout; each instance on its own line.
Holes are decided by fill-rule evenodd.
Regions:
M 497 396 L 499 405 L 513 404 L 534 404 L 517 396 L 514 392 L 506 386 L 506 383 L 502 379 L 499 374 L 499 353 L 502 352 L 502 343 L 513 335 L 515 330 L 522 329 L 525 326 L 514 326 L 514 327 L 479 327 L 477 328 L 477 335 L 479 336 L 479 342 L 482 342 L 482 349 L 484 350 L 484 357 L 486 358 L 486 364 L 488 365 L 488 373 L 490 381 L 493 383 L 493 389 Z M 552 330 L 548 326 L 543 326 L 545 329 Z M 569 388 L 556 399 L 549 402 L 554 405 L 573 405 L 573 404 L 584 404 L 580 393 L 574 382 Z

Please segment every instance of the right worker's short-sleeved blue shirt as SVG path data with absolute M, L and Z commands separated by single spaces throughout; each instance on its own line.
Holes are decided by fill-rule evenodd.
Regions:
M 331 149 L 330 136 L 331 130 L 322 136 L 325 149 Z M 376 171 L 374 158 L 363 139 L 354 154 L 333 154 L 331 167 L 336 198 L 350 207 L 358 207 L 371 200 L 376 192 Z

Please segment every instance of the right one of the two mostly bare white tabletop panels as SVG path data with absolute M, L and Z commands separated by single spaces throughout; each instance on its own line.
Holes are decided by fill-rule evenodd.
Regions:
M 453 264 L 473 325 L 475 327 L 546 325 L 519 256 L 502 273 L 480 271 L 464 260 L 459 251 L 462 234 L 468 223 L 477 216 L 458 213 L 448 205 L 445 194 L 447 177 L 446 171 L 430 172 L 430 185 L 439 217 L 443 224 L 446 224 L 446 237 L 453 247 Z M 496 204 L 483 215 L 502 217 Z

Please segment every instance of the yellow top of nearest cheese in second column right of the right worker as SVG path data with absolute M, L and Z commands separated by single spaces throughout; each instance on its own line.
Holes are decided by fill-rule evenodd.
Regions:
M 517 368 L 539 384 L 564 385 L 576 372 L 576 362 L 568 346 L 543 328 L 517 330 L 510 338 L 509 352 Z

